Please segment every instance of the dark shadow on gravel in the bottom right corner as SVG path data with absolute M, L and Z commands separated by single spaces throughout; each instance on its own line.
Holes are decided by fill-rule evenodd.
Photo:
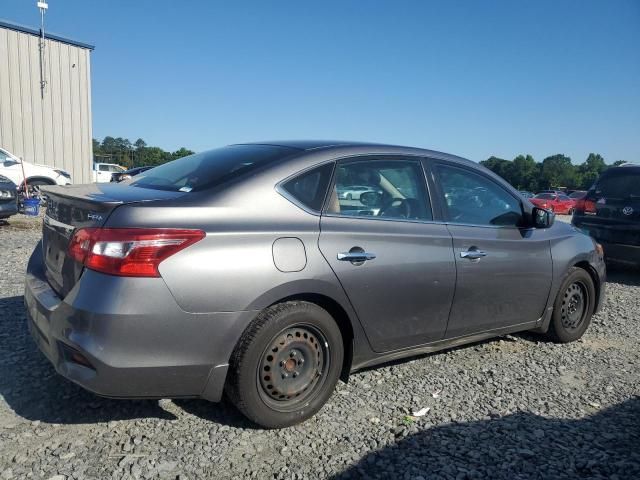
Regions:
M 580 420 L 516 413 L 427 428 L 333 478 L 640 478 L 638 445 L 633 398 Z

